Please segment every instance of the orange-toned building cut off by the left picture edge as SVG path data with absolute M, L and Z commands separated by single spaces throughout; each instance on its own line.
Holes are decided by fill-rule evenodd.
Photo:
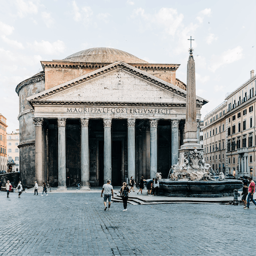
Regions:
M 6 118 L 0 114 L 0 171 L 7 171 Z

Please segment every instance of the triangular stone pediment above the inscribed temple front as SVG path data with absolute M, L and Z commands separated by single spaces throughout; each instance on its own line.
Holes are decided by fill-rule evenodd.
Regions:
M 202 100 L 197 102 L 203 103 Z M 126 63 L 115 62 L 33 95 L 28 101 L 32 105 L 38 101 L 184 104 L 186 91 Z

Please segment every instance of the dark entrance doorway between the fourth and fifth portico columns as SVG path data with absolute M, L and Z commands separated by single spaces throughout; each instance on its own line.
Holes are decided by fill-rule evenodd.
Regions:
M 122 184 L 122 141 L 112 141 L 112 185 Z

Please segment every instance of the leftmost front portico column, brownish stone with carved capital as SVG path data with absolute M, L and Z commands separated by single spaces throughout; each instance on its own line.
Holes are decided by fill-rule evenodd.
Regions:
M 43 186 L 44 173 L 43 173 L 43 122 L 41 117 L 34 118 L 36 128 L 35 139 L 35 180 L 39 186 Z

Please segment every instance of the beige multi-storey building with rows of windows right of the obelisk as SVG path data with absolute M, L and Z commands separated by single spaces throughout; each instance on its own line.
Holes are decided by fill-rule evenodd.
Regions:
M 252 70 L 248 81 L 205 116 L 204 148 L 214 170 L 235 177 L 256 177 L 255 90 L 256 76 Z

